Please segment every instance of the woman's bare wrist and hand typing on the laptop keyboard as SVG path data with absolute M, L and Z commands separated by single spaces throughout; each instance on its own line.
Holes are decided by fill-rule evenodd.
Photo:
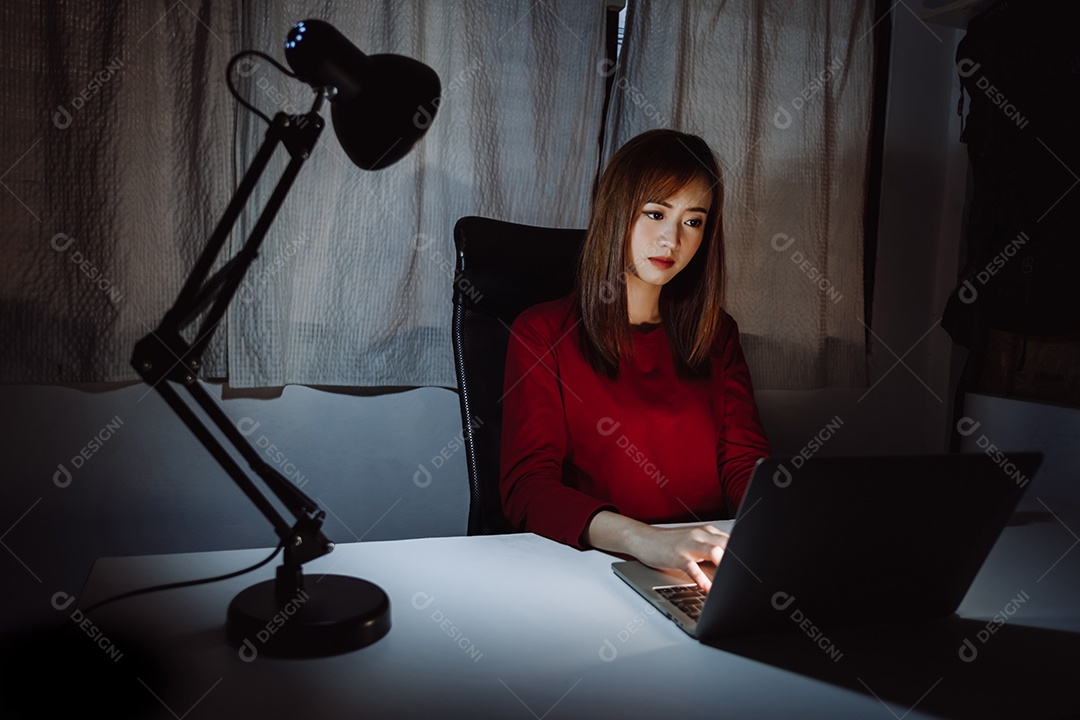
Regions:
M 720 561 L 728 534 L 711 525 L 692 528 L 654 528 L 618 513 L 597 513 L 585 529 L 585 544 L 597 549 L 633 555 L 661 570 L 681 570 L 708 592 L 713 586 L 700 562 Z

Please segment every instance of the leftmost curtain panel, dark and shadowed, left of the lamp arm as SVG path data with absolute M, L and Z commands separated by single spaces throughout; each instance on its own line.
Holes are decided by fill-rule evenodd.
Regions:
M 134 377 L 232 191 L 235 23 L 228 3 L 0 9 L 0 380 Z

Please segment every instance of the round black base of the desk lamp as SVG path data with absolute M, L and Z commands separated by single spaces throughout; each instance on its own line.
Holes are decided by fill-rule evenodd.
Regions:
M 366 580 L 323 575 L 281 598 L 278 581 L 268 580 L 229 603 L 226 629 L 241 660 L 337 655 L 366 648 L 390 631 L 390 599 Z

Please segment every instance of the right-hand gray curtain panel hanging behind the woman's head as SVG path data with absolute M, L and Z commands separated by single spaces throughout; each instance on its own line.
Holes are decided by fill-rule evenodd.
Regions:
M 866 382 L 873 23 L 868 0 L 630 3 L 607 152 L 670 126 L 720 155 L 727 304 L 758 389 Z

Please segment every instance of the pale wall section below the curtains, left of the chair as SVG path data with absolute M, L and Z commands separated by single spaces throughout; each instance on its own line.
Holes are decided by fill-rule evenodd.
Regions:
M 220 385 L 208 389 L 221 399 Z M 78 594 L 100 556 L 276 544 L 269 521 L 148 391 L 0 386 L 0 629 L 52 619 L 52 595 Z M 326 510 L 330 540 L 464 533 L 455 392 L 288 386 L 222 407 L 266 462 Z

